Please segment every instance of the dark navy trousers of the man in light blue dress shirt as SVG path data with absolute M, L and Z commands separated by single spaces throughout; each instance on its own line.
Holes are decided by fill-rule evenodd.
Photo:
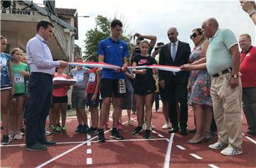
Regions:
M 46 118 L 50 110 L 53 78 L 31 73 L 28 81 L 29 99 L 26 111 L 26 145 L 46 140 Z

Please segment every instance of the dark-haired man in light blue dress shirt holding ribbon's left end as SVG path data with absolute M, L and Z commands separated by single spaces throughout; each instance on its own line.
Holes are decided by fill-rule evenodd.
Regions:
M 67 62 L 53 61 L 48 40 L 53 36 L 53 24 L 39 21 L 36 25 L 36 37 L 27 43 L 28 65 L 31 76 L 28 81 L 29 100 L 26 111 L 26 149 L 47 150 L 56 142 L 46 140 L 46 118 L 50 110 L 55 67 L 65 68 Z

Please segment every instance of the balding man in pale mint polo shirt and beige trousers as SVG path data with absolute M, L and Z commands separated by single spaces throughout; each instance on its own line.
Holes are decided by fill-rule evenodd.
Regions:
M 210 44 L 206 53 L 206 67 L 211 75 L 210 95 L 218 129 L 218 142 L 209 145 L 223 155 L 242 154 L 242 84 L 238 41 L 229 29 L 218 28 L 218 21 L 209 18 L 203 30 Z

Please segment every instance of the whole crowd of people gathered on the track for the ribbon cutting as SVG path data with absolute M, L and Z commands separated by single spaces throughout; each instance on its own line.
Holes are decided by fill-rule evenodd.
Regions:
M 105 142 L 104 129 L 109 129 L 113 104 L 111 138 L 124 139 L 119 129 L 122 129 L 122 110 L 126 109 L 129 125 L 134 124 L 131 112 L 137 114 L 137 127 L 132 135 L 139 135 L 144 130 L 144 138 L 149 139 L 154 128 L 152 106 L 156 101 L 155 111 L 159 112 L 160 95 L 165 119 L 162 129 L 187 135 L 188 106 L 193 106 L 196 129 L 188 143 L 210 142 L 216 131 L 211 126 L 215 124 L 218 142 L 208 147 L 221 150 L 223 155 L 242 154 L 242 105 L 248 124 L 246 135 L 256 135 L 256 47 L 252 46 L 250 35 L 239 36 L 240 52 L 234 33 L 220 29 L 215 18 L 208 18 L 201 28 L 192 30 L 192 51 L 188 43 L 178 40 L 178 30 L 171 27 L 167 30 L 170 43 L 166 45 L 156 44 L 154 35 L 136 33 L 136 46 L 129 55 L 127 43 L 119 38 L 122 26 L 121 21 L 114 19 L 111 36 L 97 46 L 98 57 L 91 56 L 87 60 L 121 68 L 76 66 L 69 74 L 64 73 L 68 62 L 53 61 L 50 53 L 48 40 L 53 35 L 52 23 L 38 22 L 37 34 L 28 41 L 26 53 L 19 48 L 13 48 L 10 55 L 4 53 L 7 39 L 1 36 L 1 120 L 4 129 L 1 143 L 6 145 L 10 140 L 20 140 L 25 133 L 27 150 L 47 150 L 48 146 L 56 144 L 46 140 L 46 118 L 50 111 L 49 128 L 53 133 L 67 131 L 70 86 L 53 85 L 53 77 L 63 77 L 77 81 L 72 86 L 71 96 L 78 118 L 77 133 L 97 135 L 97 141 Z M 75 61 L 83 62 L 82 57 L 76 57 Z M 128 69 L 129 65 L 158 64 L 180 67 L 182 71 Z M 90 108 L 90 128 L 86 105 Z

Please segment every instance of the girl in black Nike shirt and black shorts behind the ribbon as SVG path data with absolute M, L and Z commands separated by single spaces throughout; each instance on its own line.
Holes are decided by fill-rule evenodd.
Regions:
M 132 66 L 143 66 L 143 65 L 156 65 L 157 62 L 154 57 L 148 54 L 149 42 L 143 40 L 139 45 L 142 53 L 137 57 L 134 57 Z M 144 108 L 146 107 L 146 131 L 144 138 L 151 138 L 151 116 L 152 116 L 152 105 L 154 100 L 154 91 L 156 91 L 156 81 L 154 80 L 153 74 L 157 72 L 157 69 L 134 69 L 132 71 L 136 74 L 134 79 L 134 94 L 137 104 L 137 120 L 138 126 L 133 131 L 133 135 L 139 135 L 142 132 L 142 124 L 144 123 Z

